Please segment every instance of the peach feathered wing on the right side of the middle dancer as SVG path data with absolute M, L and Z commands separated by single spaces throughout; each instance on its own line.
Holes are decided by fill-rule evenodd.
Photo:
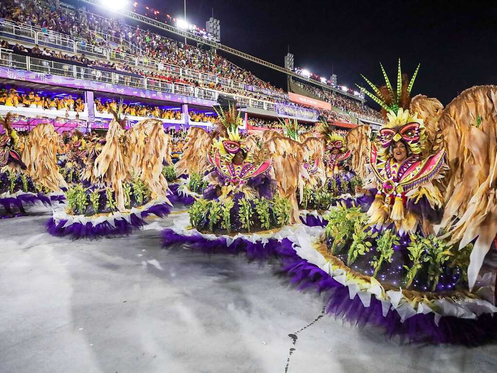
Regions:
M 297 188 L 303 189 L 303 177 L 307 174 L 302 164 L 304 147 L 287 137 L 273 137 L 263 145 L 272 158 L 272 173 L 280 196 L 286 198 L 292 206 L 290 223 L 299 219 Z

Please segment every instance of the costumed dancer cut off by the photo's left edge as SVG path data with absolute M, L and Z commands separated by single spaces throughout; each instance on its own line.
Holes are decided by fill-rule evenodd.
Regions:
M 24 205 L 38 201 L 50 203 L 50 199 L 39 192 L 25 172 L 26 165 L 16 151 L 17 134 L 11 122 L 11 113 L 0 116 L 0 125 L 5 130 L 0 136 L 0 205 L 4 209 L 0 215 L 2 218 L 24 215 Z

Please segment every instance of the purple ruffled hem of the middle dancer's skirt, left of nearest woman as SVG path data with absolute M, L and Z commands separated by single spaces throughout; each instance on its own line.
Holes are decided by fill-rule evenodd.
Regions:
M 162 233 L 163 247 L 169 245 L 188 244 L 194 250 L 200 250 L 205 254 L 246 254 L 249 260 L 265 260 L 276 257 L 281 246 L 292 247 L 292 242 L 284 238 L 281 242 L 277 239 L 269 239 L 267 243 L 256 241 L 252 243 L 242 237 L 237 238 L 229 246 L 225 237 L 208 240 L 201 234 L 183 236 L 172 229 L 165 229 Z

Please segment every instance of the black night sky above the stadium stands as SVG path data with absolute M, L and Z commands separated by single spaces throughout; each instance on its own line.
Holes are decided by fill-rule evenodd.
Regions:
M 139 2 L 144 1 L 171 16 L 183 14 L 183 0 Z M 409 76 L 421 63 L 413 95 L 447 104 L 467 88 L 497 83 L 497 5 L 492 3 L 187 0 L 186 11 L 190 23 L 205 27 L 214 8 L 223 44 L 280 66 L 290 44 L 296 67 L 325 77 L 333 71 L 347 87 L 365 84 L 359 74 L 382 83 L 379 62 L 391 81 L 398 57 Z M 230 60 L 286 88 L 283 74 Z

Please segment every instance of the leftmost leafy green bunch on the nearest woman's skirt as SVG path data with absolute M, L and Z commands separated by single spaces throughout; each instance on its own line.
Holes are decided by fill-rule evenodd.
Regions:
M 355 220 L 360 214 L 360 207 L 347 208 L 345 204 L 338 204 L 325 216 L 325 219 L 328 220 L 325 235 L 332 240 L 329 248 L 331 254 L 338 253 L 345 246 L 347 240 L 352 238 Z

